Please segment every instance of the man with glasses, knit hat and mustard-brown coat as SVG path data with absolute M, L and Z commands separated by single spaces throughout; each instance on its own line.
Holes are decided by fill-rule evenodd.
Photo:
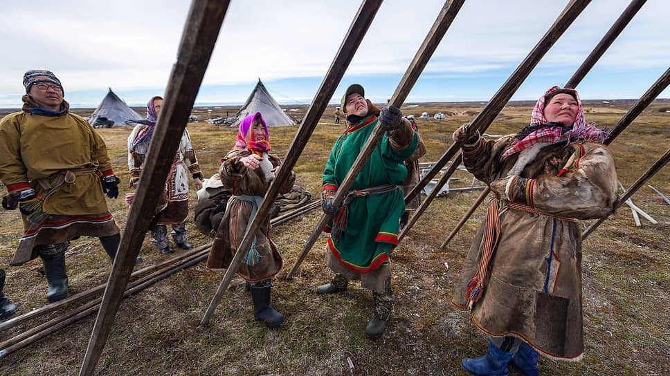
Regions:
M 100 238 L 114 260 L 120 229 L 105 194 L 118 196 L 107 147 L 91 124 L 69 112 L 63 86 L 50 71 L 24 75 L 22 111 L 0 120 L 0 178 L 5 209 L 19 207 L 26 232 L 11 265 L 42 259 L 46 299 L 68 295 L 65 250 L 80 236 Z

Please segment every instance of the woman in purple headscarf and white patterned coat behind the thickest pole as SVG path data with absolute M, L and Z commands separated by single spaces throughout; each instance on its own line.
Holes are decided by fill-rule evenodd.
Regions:
M 130 169 L 130 187 L 136 188 L 140 184 L 140 175 L 144 167 L 149 144 L 154 134 L 156 120 L 158 120 L 163 106 L 162 97 L 153 97 L 147 103 L 147 118 L 145 120 L 133 120 L 138 123 L 128 137 L 128 167 Z M 168 228 L 172 225 L 172 239 L 178 247 L 190 250 L 192 245 L 186 241 L 186 218 L 188 217 L 188 174 L 192 175 L 193 185 L 196 191 L 202 188 L 203 174 L 200 171 L 198 160 L 195 156 L 191 138 L 188 131 L 184 129 L 179 142 L 168 180 L 165 182 L 165 191 L 161 196 L 154 220 L 156 227 L 151 229 L 152 243 L 163 254 L 170 254 L 174 250 L 168 241 Z M 129 197 L 132 199 L 132 196 Z M 128 200 L 129 202 L 131 200 Z M 158 217 L 158 218 L 156 218 Z

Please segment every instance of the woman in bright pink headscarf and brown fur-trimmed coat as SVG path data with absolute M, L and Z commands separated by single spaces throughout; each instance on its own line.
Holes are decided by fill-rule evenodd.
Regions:
M 207 259 L 210 269 L 227 269 L 230 266 L 246 227 L 253 220 L 270 187 L 273 173 L 281 164 L 277 156 L 268 153 L 269 139 L 268 127 L 261 113 L 248 115 L 239 123 L 235 147 L 221 160 L 219 178 L 233 196 L 228 199 L 226 212 L 212 243 Z M 296 176 L 291 172 L 290 178 L 282 182 L 281 193 L 291 190 L 295 180 Z M 253 316 L 268 328 L 276 328 L 284 322 L 284 316 L 270 306 L 270 279 L 282 270 L 282 265 L 282 255 L 270 239 L 268 215 L 237 269 L 237 274 L 248 282 Z

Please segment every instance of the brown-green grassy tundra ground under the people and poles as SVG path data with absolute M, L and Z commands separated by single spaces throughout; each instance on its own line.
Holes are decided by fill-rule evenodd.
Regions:
M 455 128 L 471 120 L 482 106 L 445 103 L 405 107 L 404 113 L 417 116 L 422 111 L 453 113 L 441 121 L 419 120 L 428 147 L 423 161 L 437 160 L 451 144 Z M 518 130 L 529 119 L 531 106 L 505 107 L 489 133 Z M 587 120 L 612 126 L 628 106 L 587 103 Z M 611 147 L 619 179 L 626 187 L 667 149 L 670 114 L 658 111 L 660 107 L 655 104 L 644 111 Z M 291 115 L 304 114 L 304 107 L 298 109 Z M 235 111 L 214 109 L 213 115 L 224 115 L 226 110 Z M 197 115 L 203 113 L 200 109 Z M 330 113 L 332 109 L 327 110 L 323 122 L 332 122 Z M 188 128 L 203 171 L 206 175 L 215 173 L 219 158 L 233 145 L 237 129 L 205 122 L 191 123 Z M 318 194 L 327 154 L 342 130 L 342 124 L 318 126 L 296 165 L 296 184 Z M 127 127 L 100 129 L 122 180 L 121 196 L 128 191 L 125 140 L 129 131 Z M 286 153 L 295 132 L 296 127 L 271 129 L 275 153 Z M 455 176 L 461 180 L 452 187 L 469 186 L 469 174 L 458 171 Z M 649 184 L 670 196 L 670 169 L 660 171 Z M 314 294 L 314 288 L 331 276 L 323 263 L 323 236 L 296 278 L 284 280 L 318 220 L 320 213 L 313 212 L 273 230 L 286 264 L 273 282 L 273 306 L 287 317 L 279 330 L 266 330 L 255 323 L 251 297 L 239 287 L 224 295 L 210 325 L 199 327 L 223 276 L 199 264 L 123 301 L 98 363 L 98 375 L 464 375 L 460 359 L 484 353 L 487 337 L 449 301 L 484 210 L 478 209 L 445 250 L 440 244 L 478 195 L 476 191 L 437 198 L 397 247 L 392 260 L 392 288 L 397 300 L 380 339 L 365 337 L 372 297 L 359 284 L 334 296 Z M 584 242 L 585 359 L 562 363 L 541 358 L 543 375 L 670 374 L 670 206 L 646 186 L 633 199 L 658 220 L 658 225 L 643 219 L 642 227 L 635 227 L 630 210 L 622 207 Z M 123 200 L 109 200 L 109 205 L 123 227 Z M 190 205 L 195 205 L 194 199 Z M 194 225 L 189 229 L 188 238 L 194 245 L 210 241 Z M 8 265 L 20 235 L 18 212 L 0 212 L 0 265 Z M 68 254 L 71 293 L 106 281 L 109 259 L 97 239 L 73 241 Z M 153 250 L 148 237 L 141 255 L 144 265 L 170 257 Z M 46 303 L 46 279 L 39 261 L 7 267 L 7 271 L 5 292 L 19 306 L 17 314 Z M 87 317 L 0 359 L 0 375 L 76 375 L 93 322 L 93 316 Z M 36 324 L 2 332 L 0 340 Z M 349 360 L 353 370 L 347 366 Z

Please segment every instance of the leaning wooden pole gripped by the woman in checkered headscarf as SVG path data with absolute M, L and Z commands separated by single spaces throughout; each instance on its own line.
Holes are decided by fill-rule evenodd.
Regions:
M 498 113 L 503 109 L 505 104 L 509 102 L 509 98 L 516 92 L 521 83 L 528 77 L 533 68 L 540 62 L 540 59 L 547 53 L 547 51 L 554 45 L 556 40 L 563 35 L 565 29 L 570 26 L 572 21 L 579 16 L 582 10 L 590 3 L 590 0 L 572 0 L 565 7 L 561 15 L 554 21 L 551 28 L 545 33 L 542 39 L 530 51 L 530 53 L 523 59 L 523 62 L 516 68 L 514 73 L 509 76 L 505 84 L 498 89 L 498 92 L 487 103 L 487 105 L 480 111 L 477 117 L 472 121 L 472 129 L 478 129 L 480 133 L 484 133 L 491 125 L 491 122 L 498 116 Z M 461 143 L 454 142 L 451 147 L 447 149 L 442 157 L 433 165 L 433 168 L 424 175 L 424 177 L 415 185 L 410 193 L 405 196 L 405 202 L 409 203 L 417 194 L 420 194 L 422 189 L 428 185 L 428 182 L 433 180 L 437 173 L 449 162 L 453 156 L 460 150 Z

